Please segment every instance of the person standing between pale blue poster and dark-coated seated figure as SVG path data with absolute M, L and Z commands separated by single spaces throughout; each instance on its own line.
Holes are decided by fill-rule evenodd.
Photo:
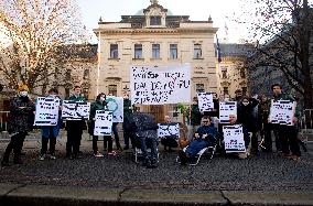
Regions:
M 132 133 L 127 126 L 129 126 L 129 120 L 130 116 L 132 113 L 132 107 L 131 107 L 131 100 L 129 99 L 129 95 L 125 95 L 123 97 L 123 123 L 122 123 L 122 129 L 123 129 L 123 143 L 125 148 L 123 150 L 129 149 L 129 140 L 131 142 L 131 148 L 133 148 L 133 140 L 132 140 Z

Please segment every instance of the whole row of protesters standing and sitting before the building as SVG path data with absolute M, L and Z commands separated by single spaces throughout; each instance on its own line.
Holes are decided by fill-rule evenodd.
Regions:
M 248 151 L 248 145 L 251 141 L 250 152 L 238 153 L 240 159 L 247 158 L 248 154 L 258 154 L 258 132 L 262 137 L 261 150 L 266 152 L 272 151 L 272 138 L 271 131 L 276 137 L 276 148 L 280 152 L 281 156 L 299 160 L 301 156 L 300 147 L 296 138 L 295 126 L 274 124 L 269 122 L 270 100 L 292 100 L 292 96 L 282 91 L 282 86 L 279 84 L 271 87 L 273 97 L 267 98 L 260 97 L 246 97 L 242 96 L 241 90 L 236 90 L 235 98 L 230 99 L 229 95 L 225 94 L 217 98 L 214 95 L 214 109 L 212 111 L 201 112 L 198 109 L 197 98 L 193 99 L 191 105 L 191 126 L 190 126 L 190 144 L 188 148 L 180 152 L 181 163 L 185 164 L 188 160 L 195 158 L 197 152 L 205 147 L 219 143 L 219 149 L 223 150 L 223 124 L 218 123 L 219 104 L 218 101 L 237 101 L 237 116 L 229 116 L 229 124 L 240 123 L 244 127 L 245 147 Z M 66 120 L 67 142 L 66 142 L 66 158 L 73 160 L 79 158 L 79 148 L 82 141 L 83 130 L 88 128 L 88 132 L 93 135 L 93 153 L 96 158 L 101 158 L 104 154 L 98 150 L 98 135 L 94 134 L 95 129 L 95 116 L 97 110 L 107 110 L 106 94 L 100 93 L 96 100 L 90 106 L 90 117 L 88 127 L 85 120 Z M 55 88 L 48 90 L 46 98 L 57 98 L 58 91 Z M 75 86 L 74 94 L 68 98 L 72 101 L 86 101 L 82 95 L 82 87 Z M 62 104 L 60 106 L 60 112 L 62 111 Z M 25 135 L 31 130 L 33 124 L 33 116 L 35 113 L 35 104 L 29 97 L 29 88 L 25 85 L 21 85 L 18 89 L 18 95 L 11 99 L 10 118 L 8 124 L 8 131 L 11 134 L 11 141 L 8 144 L 4 154 L 2 156 L 1 165 L 9 165 L 10 153 L 13 150 L 13 163 L 21 164 L 21 151 Z M 296 110 L 294 116 L 294 123 L 299 112 Z M 61 115 L 60 115 L 61 117 Z M 58 119 L 56 126 L 43 126 L 42 131 L 42 147 L 40 151 L 40 160 L 43 161 L 46 158 L 55 160 L 55 144 L 56 137 L 62 128 L 62 119 Z M 165 123 L 170 123 L 170 117 L 165 117 Z M 123 98 L 123 139 L 125 150 L 132 147 L 139 147 L 143 154 L 143 165 L 147 167 L 156 167 L 158 164 L 158 124 L 151 115 L 133 112 L 132 105 L 128 96 Z M 248 134 L 251 133 L 251 135 Z M 119 142 L 119 135 L 117 131 L 117 123 L 112 123 L 112 135 L 104 137 L 104 150 L 107 150 L 108 155 L 116 155 L 117 152 L 112 149 L 112 140 L 116 141 L 117 150 L 122 150 Z M 173 147 L 173 140 L 161 142 L 165 149 L 171 151 Z M 50 149 L 47 150 L 47 144 Z M 147 147 L 151 148 L 151 154 L 148 154 Z

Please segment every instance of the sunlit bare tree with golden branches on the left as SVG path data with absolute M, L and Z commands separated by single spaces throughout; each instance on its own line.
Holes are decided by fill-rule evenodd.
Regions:
M 75 0 L 0 1 L 0 23 L 9 40 L 7 46 L 0 45 L 0 72 L 11 88 L 21 83 L 31 90 L 45 88 L 68 61 L 60 47 L 86 42 Z

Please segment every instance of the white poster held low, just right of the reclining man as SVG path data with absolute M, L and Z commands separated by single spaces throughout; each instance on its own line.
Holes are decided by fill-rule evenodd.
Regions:
M 225 152 L 246 152 L 241 124 L 223 126 Z

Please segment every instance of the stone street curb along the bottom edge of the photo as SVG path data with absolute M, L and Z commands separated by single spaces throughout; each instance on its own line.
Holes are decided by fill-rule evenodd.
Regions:
M 158 191 L 136 188 L 87 188 L 73 186 L 0 183 L 0 206 L 172 206 L 253 205 L 312 206 L 312 193 L 262 193 L 227 191 Z

